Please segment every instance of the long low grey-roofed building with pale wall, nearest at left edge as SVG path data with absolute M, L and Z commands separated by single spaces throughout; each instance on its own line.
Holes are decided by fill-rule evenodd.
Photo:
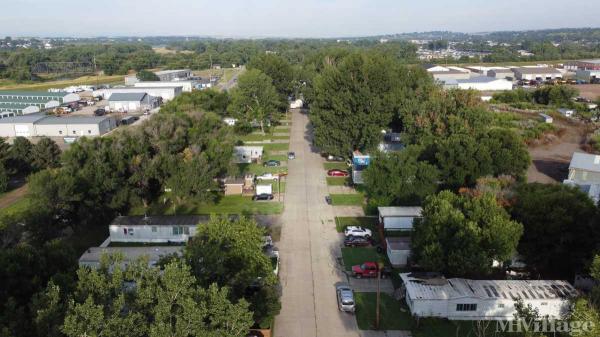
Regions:
M 24 115 L 0 119 L 0 137 L 101 136 L 117 127 L 112 117 Z

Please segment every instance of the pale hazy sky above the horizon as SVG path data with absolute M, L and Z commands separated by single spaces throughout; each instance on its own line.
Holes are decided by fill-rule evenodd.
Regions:
M 0 0 L 0 36 L 339 37 L 599 27 L 598 0 Z

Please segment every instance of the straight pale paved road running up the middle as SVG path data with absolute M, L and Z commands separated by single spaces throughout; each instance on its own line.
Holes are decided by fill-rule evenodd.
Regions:
M 322 158 L 310 145 L 308 117 L 292 113 L 285 211 L 279 243 L 281 314 L 277 337 L 359 336 L 353 315 L 337 310 L 335 285 L 346 282 L 337 263 L 340 234 L 334 211 L 325 203 L 327 183 Z

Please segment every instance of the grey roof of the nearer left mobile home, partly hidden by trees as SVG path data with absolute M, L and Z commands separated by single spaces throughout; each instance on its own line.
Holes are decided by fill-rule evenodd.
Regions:
M 102 255 L 123 256 L 123 267 L 140 258 L 148 259 L 149 266 L 155 266 L 162 257 L 174 254 L 182 255 L 183 246 L 148 246 L 148 247 L 91 247 L 79 258 L 79 266 L 98 268 Z

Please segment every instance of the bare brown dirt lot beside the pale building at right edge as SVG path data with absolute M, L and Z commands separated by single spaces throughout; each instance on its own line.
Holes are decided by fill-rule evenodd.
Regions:
M 529 182 L 562 182 L 567 178 L 573 152 L 582 151 L 580 146 L 585 142 L 586 136 L 583 125 L 563 121 L 555 121 L 555 125 L 566 129 L 560 139 L 551 144 L 529 148 L 532 160 L 532 165 L 527 171 Z

